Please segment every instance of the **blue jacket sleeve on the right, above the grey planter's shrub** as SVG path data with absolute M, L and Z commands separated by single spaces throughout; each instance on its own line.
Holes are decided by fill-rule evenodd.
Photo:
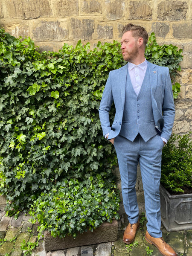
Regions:
M 161 131 L 161 137 L 169 140 L 172 134 L 173 123 L 175 119 L 175 105 L 173 99 L 172 82 L 169 76 L 169 68 L 167 67 L 166 84 L 163 99 L 163 119 L 164 126 Z

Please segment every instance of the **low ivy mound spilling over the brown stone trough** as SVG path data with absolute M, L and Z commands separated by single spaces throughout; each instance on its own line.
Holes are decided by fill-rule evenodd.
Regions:
M 102 176 L 85 176 L 85 180 L 63 180 L 49 192 L 42 192 L 29 211 L 43 229 L 52 236 L 75 238 L 77 233 L 99 227 L 103 222 L 118 219 L 119 197 L 116 186 Z

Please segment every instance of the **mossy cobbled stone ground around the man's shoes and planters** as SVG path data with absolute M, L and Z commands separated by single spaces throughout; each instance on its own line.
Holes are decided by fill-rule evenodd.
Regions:
M 122 236 L 126 225 L 119 221 L 117 241 L 46 252 L 44 238 L 42 238 L 32 254 L 27 254 L 20 248 L 21 242 L 23 239 L 30 242 L 36 241 L 38 225 L 29 221 L 29 215 L 20 215 L 15 220 L 14 217 L 6 217 L 5 213 L 0 209 L 0 256 L 161 256 L 157 248 L 144 239 L 146 221 L 137 231 L 135 241 L 138 242 L 138 246 L 128 247 L 123 243 Z M 168 233 L 163 226 L 162 230 L 164 240 L 175 249 L 178 256 L 192 256 L 192 230 Z

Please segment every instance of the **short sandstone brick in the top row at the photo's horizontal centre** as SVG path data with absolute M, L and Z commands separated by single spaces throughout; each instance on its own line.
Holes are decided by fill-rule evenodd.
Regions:
M 98 0 L 83 0 L 81 3 L 81 13 L 84 13 L 84 14 L 102 13 L 102 4 Z

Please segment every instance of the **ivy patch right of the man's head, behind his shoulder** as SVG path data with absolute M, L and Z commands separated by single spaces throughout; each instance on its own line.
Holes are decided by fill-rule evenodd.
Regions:
M 159 66 L 169 67 L 170 76 L 174 82 L 172 84 L 174 99 L 177 99 L 178 93 L 180 92 L 180 84 L 175 82 L 175 76 L 177 70 L 181 71 L 179 64 L 183 60 L 182 52 L 182 49 L 178 49 L 178 47 L 172 44 L 157 44 L 154 33 L 151 33 L 145 48 L 145 58 L 148 61 Z

